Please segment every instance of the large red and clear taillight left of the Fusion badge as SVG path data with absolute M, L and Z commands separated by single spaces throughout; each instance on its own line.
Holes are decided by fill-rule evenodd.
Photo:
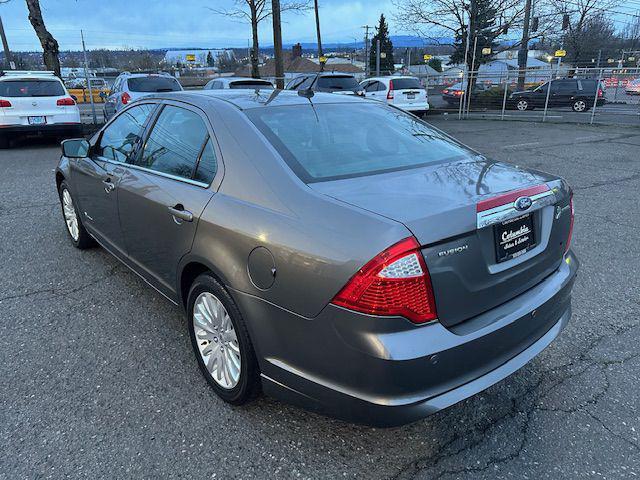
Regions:
M 332 303 L 369 315 L 402 316 L 413 323 L 437 318 L 429 271 L 413 237 L 358 270 Z

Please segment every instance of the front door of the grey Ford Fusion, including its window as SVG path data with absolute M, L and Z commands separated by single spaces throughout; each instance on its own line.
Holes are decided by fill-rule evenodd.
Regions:
M 121 256 L 126 248 L 118 216 L 118 183 L 139 146 L 155 104 L 123 111 L 99 134 L 88 158 L 71 160 L 71 180 L 85 227 L 105 247 Z

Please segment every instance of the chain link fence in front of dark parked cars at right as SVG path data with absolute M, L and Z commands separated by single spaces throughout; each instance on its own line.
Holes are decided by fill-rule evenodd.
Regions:
M 640 125 L 640 68 L 480 69 L 418 77 L 432 113 Z

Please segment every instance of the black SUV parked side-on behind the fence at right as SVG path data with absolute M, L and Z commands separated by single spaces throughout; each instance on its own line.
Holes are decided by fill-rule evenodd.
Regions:
M 593 106 L 594 101 L 598 106 L 605 103 L 604 90 L 598 80 L 562 78 L 543 83 L 533 90 L 513 92 L 509 96 L 508 104 L 521 111 L 544 107 L 549 85 L 549 107 L 571 107 L 574 112 L 586 112 Z

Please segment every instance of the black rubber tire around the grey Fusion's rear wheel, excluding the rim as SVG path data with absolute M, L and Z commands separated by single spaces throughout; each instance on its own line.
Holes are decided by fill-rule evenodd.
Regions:
M 229 318 L 233 323 L 233 328 L 238 338 L 240 350 L 240 377 L 237 385 L 230 389 L 223 388 L 216 382 L 216 380 L 214 380 L 211 373 L 207 370 L 198 348 L 193 325 L 193 310 L 196 299 L 204 292 L 213 294 L 222 303 L 229 314 Z M 216 394 L 222 400 L 232 405 L 242 405 L 255 398 L 260 393 L 260 369 L 253 350 L 253 344 L 249 338 L 247 326 L 242 318 L 240 310 L 229 293 L 209 273 L 203 273 L 197 277 L 191 285 L 187 300 L 187 325 L 189 328 L 189 337 L 191 338 L 191 346 L 193 347 L 193 352 L 198 361 L 200 371 Z

